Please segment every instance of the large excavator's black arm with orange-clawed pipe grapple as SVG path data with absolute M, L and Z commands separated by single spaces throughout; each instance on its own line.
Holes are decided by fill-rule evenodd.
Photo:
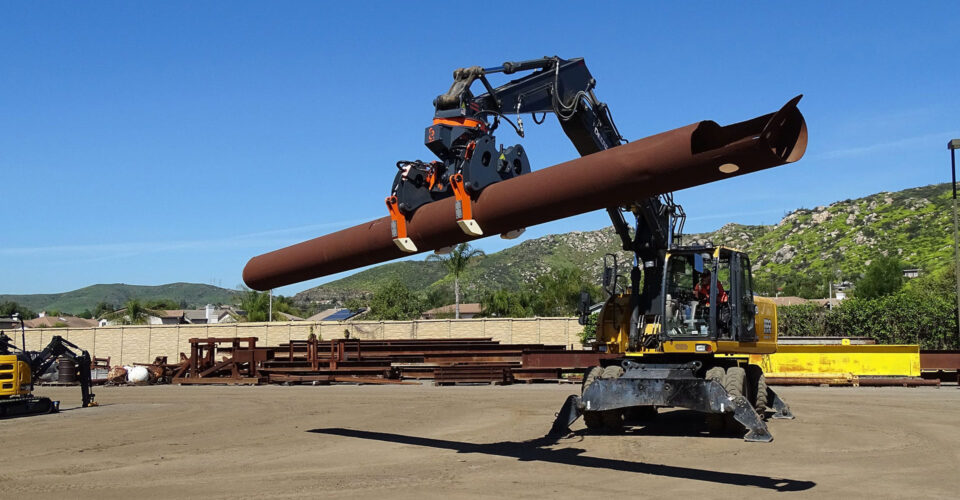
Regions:
M 533 72 L 498 87 L 487 79 L 490 74 L 522 71 Z M 552 113 L 581 156 L 626 142 L 609 107 L 597 99 L 596 80 L 582 58 L 544 57 L 489 68 L 472 66 L 454 71 L 453 77 L 450 89 L 434 100 L 434 123 L 426 131 L 426 145 L 441 161 L 398 162 L 401 172 L 394 180 L 391 197 L 387 198 L 394 242 L 404 251 L 416 251 L 406 237 L 406 218 L 423 204 L 451 195 L 457 198 L 455 216 L 461 229 L 473 236 L 483 234 L 470 218 L 472 197 L 489 184 L 530 171 L 520 145 L 507 149 L 501 146 L 495 164 L 499 175 L 490 175 L 490 163 L 484 158 L 495 148 L 493 132 L 501 121 L 510 123 L 523 137 L 520 115 L 530 113 L 535 123 L 542 123 L 546 113 Z M 475 96 L 471 86 L 478 80 L 486 92 Z M 538 120 L 537 114 L 543 116 Z M 511 115 L 516 116 L 516 123 L 510 120 Z M 633 235 L 624 210 L 636 217 Z M 628 207 L 608 207 L 607 213 L 624 250 L 638 252 L 637 262 L 649 263 L 651 267 L 662 264 L 662 256 L 674 243 L 674 235 L 682 230 L 684 218 L 683 209 L 673 203 L 670 194 L 637 200 Z M 655 295 L 658 287 L 650 285 L 649 291 L 647 286 L 644 288 L 645 295 Z M 657 301 L 650 297 L 644 302 Z

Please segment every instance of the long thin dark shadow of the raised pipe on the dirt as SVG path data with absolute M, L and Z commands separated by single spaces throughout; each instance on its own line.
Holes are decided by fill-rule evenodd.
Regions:
M 521 461 L 539 461 L 576 467 L 591 467 L 595 469 L 650 474 L 654 476 L 691 479 L 720 484 L 738 486 L 753 486 L 774 491 L 803 491 L 816 486 L 813 481 L 802 481 L 788 478 L 774 478 L 755 474 L 739 474 L 733 472 L 719 472 L 693 467 L 679 467 L 673 465 L 648 464 L 631 462 L 611 458 L 590 457 L 583 455 L 586 450 L 580 448 L 550 449 L 547 446 L 556 444 L 555 439 L 541 438 L 532 441 L 501 441 L 489 444 L 474 444 L 445 439 L 431 439 L 417 436 L 404 436 L 387 432 L 361 431 L 356 429 L 326 428 L 311 429 L 307 432 L 326 434 L 357 439 L 369 439 L 389 443 L 401 443 L 414 446 L 426 446 L 454 450 L 458 453 L 482 453 L 501 457 L 515 458 Z

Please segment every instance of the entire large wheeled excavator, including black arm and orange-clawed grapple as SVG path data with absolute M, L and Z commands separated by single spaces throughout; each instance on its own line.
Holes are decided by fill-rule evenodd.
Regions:
M 527 71 L 532 73 L 496 88 L 487 79 Z M 425 144 L 438 160 L 397 162 L 386 199 L 393 241 L 405 252 L 418 251 L 407 237 L 406 221 L 419 207 L 453 196 L 452 216 L 460 229 L 481 236 L 471 201 L 495 182 L 530 172 L 521 145 L 497 146 L 493 132 L 501 122 L 523 137 L 520 115 L 530 113 L 539 124 L 552 113 L 582 156 L 626 142 L 607 105 L 597 99 L 596 80 L 582 58 L 473 66 L 453 77 L 450 89 L 434 100 L 433 123 L 425 131 Z M 471 91 L 477 81 L 486 91 L 480 95 Z M 799 100 L 761 119 L 774 122 L 798 113 Z M 619 274 L 616 256 L 605 258 L 608 297 L 597 318 L 595 348 L 616 356 L 587 370 L 581 394 L 567 399 L 551 434 L 565 434 L 580 416 L 590 429 L 617 432 L 652 418 L 657 408 L 683 407 L 706 413 L 711 431 L 745 430 L 748 441 L 772 440 L 767 411 L 775 418 L 793 416 L 766 385 L 760 366 L 749 363 L 750 354 L 770 354 L 777 347 L 776 307 L 753 295 L 749 257 L 722 246 L 682 246 L 685 213 L 671 193 L 609 207 L 607 213 L 623 250 L 633 254 L 629 276 Z M 582 302 L 584 322 L 589 298 Z

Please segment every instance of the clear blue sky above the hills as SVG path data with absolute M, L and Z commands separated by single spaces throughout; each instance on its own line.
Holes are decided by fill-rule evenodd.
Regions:
M 805 94 L 806 157 L 677 193 L 688 232 L 946 182 L 946 142 L 960 137 L 954 12 L 951 2 L 4 2 L 0 293 L 235 288 L 254 255 L 385 215 L 394 163 L 431 159 L 423 129 L 453 69 L 544 55 L 586 58 L 628 139 L 740 121 Z M 534 169 L 576 156 L 555 120 L 525 122 Z M 499 142 L 518 142 L 508 129 Z M 525 237 L 608 223 L 586 214 Z

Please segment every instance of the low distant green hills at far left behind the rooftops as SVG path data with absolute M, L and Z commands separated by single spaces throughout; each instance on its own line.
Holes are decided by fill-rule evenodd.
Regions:
M 130 299 L 143 301 L 168 299 L 182 303 L 190 309 L 206 304 L 232 304 L 236 294 L 235 290 L 200 283 L 170 283 L 157 286 L 114 283 L 92 285 L 64 293 L 0 295 L 0 302 L 16 302 L 36 312 L 59 310 L 77 314 L 85 309 L 92 311 L 99 302 L 122 307 Z

